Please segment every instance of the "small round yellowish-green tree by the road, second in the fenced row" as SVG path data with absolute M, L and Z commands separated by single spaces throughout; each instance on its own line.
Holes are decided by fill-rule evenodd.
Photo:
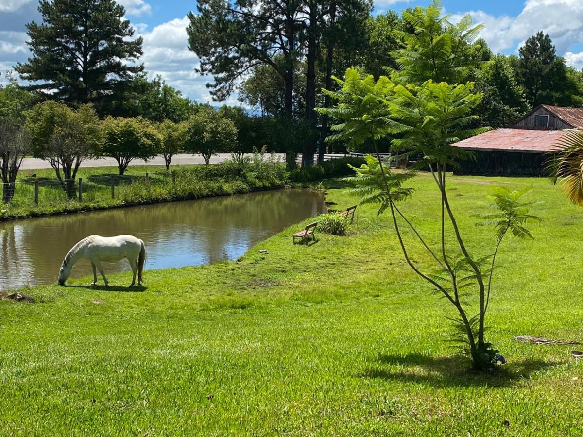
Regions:
M 117 161 L 120 176 L 134 159 L 156 156 L 162 141 L 152 122 L 144 118 L 107 117 L 103 124 L 103 156 Z

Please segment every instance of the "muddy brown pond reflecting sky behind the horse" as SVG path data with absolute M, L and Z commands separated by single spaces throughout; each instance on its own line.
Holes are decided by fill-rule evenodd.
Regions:
M 293 189 L 6 221 L 0 223 L 0 290 L 56 283 L 64 256 L 87 235 L 143 239 L 146 270 L 197 266 L 237 259 L 324 211 L 321 193 Z M 129 270 L 127 260 L 103 266 L 106 275 Z M 91 275 L 90 263 L 80 260 L 71 277 Z

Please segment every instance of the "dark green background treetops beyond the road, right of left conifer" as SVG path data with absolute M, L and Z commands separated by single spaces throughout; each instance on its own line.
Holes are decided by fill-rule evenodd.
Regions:
M 160 76 L 147 80 L 139 76 L 123 91 L 104 97 L 99 112 L 113 117 L 143 117 L 155 123 L 170 120 L 187 121 L 196 110 L 196 103 L 168 85 Z

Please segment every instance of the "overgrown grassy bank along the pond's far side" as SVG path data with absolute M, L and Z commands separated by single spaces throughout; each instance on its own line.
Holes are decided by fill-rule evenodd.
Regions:
M 81 200 L 78 181 L 64 189 L 53 170 L 21 172 L 12 202 L 0 205 L 0 220 L 247 193 L 282 188 L 288 181 L 283 165 L 259 158 L 244 165 L 175 166 L 170 172 L 164 166 L 135 166 L 124 177 L 118 177 L 117 167 L 88 167 L 79 169 L 79 178 L 83 179 Z

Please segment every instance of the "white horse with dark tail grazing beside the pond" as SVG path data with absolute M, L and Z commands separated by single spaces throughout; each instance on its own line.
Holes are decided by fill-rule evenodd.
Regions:
M 100 237 L 99 235 L 90 235 L 83 238 L 67 253 L 59 270 L 59 286 L 65 286 L 65 281 L 71 274 L 71 269 L 79 259 L 87 259 L 93 267 L 92 286 L 97 284 L 96 267 L 103 277 L 106 287 L 108 282 L 106 275 L 103 273 L 101 261 L 116 262 L 127 258 L 129 265 L 134 272 L 134 279 L 130 287 L 136 283 L 136 272 L 138 273 L 138 284 L 142 283 L 142 270 L 146 261 L 146 247 L 144 242 L 132 235 L 118 235 L 117 237 Z

